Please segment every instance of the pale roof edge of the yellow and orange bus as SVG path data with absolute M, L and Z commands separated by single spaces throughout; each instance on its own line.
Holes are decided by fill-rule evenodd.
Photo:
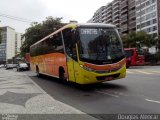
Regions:
M 46 38 L 49 38 L 51 36 L 53 36 L 54 34 L 62 31 L 63 29 L 66 29 L 66 28 L 76 28 L 76 27 L 109 27 L 109 28 L 116 28 L 115 25 L 112 25 L 112 24 L 104 24 L 104 23 L 70 23 L 70 24 L 67 24 L 65 26 L 63 26 L 62 28 L 54 31 L 53 33 L 49 34 L 48 36 L 42 38 L 41 40 L 39 40 L 38 42 L 34 43 L 33 45 L 31 45 L 30 47 L 44 41 Z

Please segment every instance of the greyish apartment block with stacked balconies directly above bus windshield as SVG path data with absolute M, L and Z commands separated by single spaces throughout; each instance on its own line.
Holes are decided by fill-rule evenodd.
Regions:
M 135 0 L 113 0 L 95 12 L 92 22 L 114 24 L 120 33 L 127 34 L 136 30 L 135 8 Z

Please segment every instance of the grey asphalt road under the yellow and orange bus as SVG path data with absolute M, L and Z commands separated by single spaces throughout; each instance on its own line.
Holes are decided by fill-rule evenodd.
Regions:
M 26 74 L 54 99 L 87 114 L 160 113 L 160 66 L 132 67 L 124 79 L 87 86 Z

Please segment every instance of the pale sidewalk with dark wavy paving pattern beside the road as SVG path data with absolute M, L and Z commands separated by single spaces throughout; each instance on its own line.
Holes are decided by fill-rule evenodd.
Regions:
M 0 114 L 79 114 L 80 120 L 94 119 L 55 100 L 23 72 L 5 69 L 0 69 Z

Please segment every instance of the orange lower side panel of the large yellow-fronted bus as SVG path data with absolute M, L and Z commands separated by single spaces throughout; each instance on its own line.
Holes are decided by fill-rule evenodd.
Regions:
M 67 74 L 66 56 L 63 53 L 51 53 L 31 58 L 31 69 L 36 72 L 36 66 L 40 73 L 59 77 L 59 67 L 63 67 Z

